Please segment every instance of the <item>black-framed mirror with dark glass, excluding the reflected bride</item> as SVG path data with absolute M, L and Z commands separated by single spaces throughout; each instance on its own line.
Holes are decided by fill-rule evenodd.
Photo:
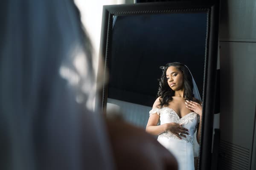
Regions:
M 185 64 L 203 104 L 198 169 L 210 168 L 218 44 L 216 11 L 216 2 L 141 3 L 103 9 L 100 53 L 109 80 L 100 94 L 102 111 L 118 108 L 127 122 L 145 128 L 157 99 L 160 66 L 168 62 Z

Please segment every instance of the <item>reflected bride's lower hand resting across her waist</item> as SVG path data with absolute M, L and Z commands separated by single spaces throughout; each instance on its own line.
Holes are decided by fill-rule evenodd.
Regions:
M 186 137 L 186 135 L 189 135 L 188 129 L 184 128 L 182 124 L 177 124 L 175 122 L 172 123 L 166 123 L 166 130 L 172 132 L 175 134 L 179 139 L 181 139 L 181 136 Z

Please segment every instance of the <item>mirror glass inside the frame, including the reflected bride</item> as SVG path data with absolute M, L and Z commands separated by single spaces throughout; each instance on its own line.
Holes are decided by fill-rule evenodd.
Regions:
M 113 17 L 107 110 L 155 135 L 180 170 L 199 152 L 206 34 L 204 12 Z

